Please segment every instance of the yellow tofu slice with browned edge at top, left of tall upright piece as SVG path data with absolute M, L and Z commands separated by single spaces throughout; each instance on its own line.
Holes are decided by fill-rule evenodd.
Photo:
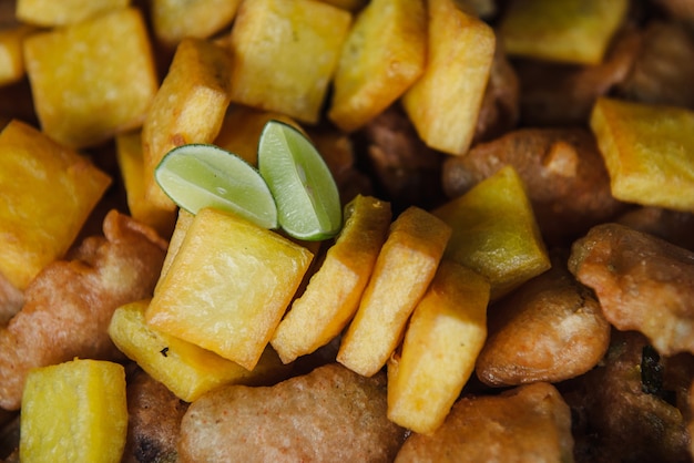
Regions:
M 423 0 L 372 0 L 343 45 L 328 117 L 344 132 L 361 127 L 421 75 L 426 53 Z

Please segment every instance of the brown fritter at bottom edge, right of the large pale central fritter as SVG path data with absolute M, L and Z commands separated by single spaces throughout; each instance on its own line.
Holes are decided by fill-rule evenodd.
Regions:
M 499 395 L 463 397 L 433 434 L 412 434 L 396 457 L 402 462 L 569 462 L 571 411 L 550 383 Z

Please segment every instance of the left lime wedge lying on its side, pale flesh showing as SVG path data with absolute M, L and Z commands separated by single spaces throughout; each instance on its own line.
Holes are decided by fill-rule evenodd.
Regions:
M 213 207 L 264 228 L 277 228 L 277 206 L 258 171 L 218 146 L 175 147 L 161 161 L 154 177 L 174 203 L 192 214 Z

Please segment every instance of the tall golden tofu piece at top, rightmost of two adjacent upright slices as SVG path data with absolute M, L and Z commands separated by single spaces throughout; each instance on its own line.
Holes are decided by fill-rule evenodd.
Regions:
M 429 0 L 425 73 L 402 105 L 420 138 L 448 154 L 468 151 L 493 61 L 493 30 L 455 0 Z

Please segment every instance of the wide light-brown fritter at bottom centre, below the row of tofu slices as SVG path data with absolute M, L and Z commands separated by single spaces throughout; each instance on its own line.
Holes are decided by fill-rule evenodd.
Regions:
M 386 418 L 386 378 L 339 364 L 272 388 L 231 385 L 193 402 L 181 423 L 184 462 L 392 461 L 405 430 Z

